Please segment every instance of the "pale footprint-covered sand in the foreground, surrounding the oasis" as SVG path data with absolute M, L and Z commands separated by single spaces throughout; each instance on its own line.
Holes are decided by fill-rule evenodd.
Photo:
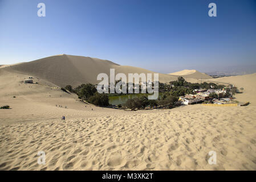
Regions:
M 243 87 L 237 98 L 249 106 L 124 111 L 79 101 L 55 85 L 64 79 L 58 75 L 23 84 L 31 75 L 17 70 L 0 69 L 0 105 L 11 106 L 0 110 L 1 170 L 256 169 L 255 74 L 216 79 Z M 217 152 L 216 165 L 208 164 L 209 151 Z

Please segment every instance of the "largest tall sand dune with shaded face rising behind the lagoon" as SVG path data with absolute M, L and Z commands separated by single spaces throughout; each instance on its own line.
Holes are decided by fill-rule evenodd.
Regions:
M 116 73 L 125 73 L 127 78 L 128 73 L 155 73 L 147 69 L 118 65 L 108 60 L 64 54 L 45 57 L 28 63 L 9 65 L 5 69 L 39 77 L 58 86 L 78 86 L 88 82 L 98 83 L 97 75 L 106 73 L 109 76 L 110 68 L 115 68 Z M 160 82 L 169 82 L 176 79 L 177 76 L 159 75 Z

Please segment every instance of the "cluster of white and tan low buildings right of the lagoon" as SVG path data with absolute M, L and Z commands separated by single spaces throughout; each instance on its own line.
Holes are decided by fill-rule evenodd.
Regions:
M 185 96 L 181 96 L 179 100 L 184 105 L 198 104 L 204 101 L 212 101 L 214 104 L 226 104 L 231 102 L 231 97 L 223 98 L 226 94 L 225 89 L 194 89 L 194 93 L 195 94 L 186 94 Z M 211 98 L 211 93 L 217 94 L 218 99 Z

